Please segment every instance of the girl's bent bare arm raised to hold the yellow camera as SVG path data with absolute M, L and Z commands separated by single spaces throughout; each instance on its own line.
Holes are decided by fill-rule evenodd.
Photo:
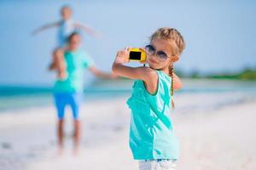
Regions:
M 157 89 L 158 75 L 148 67 L 130 67 L 124 65 L 129 62 L 129 48 L 120 50 L 113 62 L 112 71 L 121 77 L 139 79 L 146 83 L 146 88 L 150 94 L 154 94 Z

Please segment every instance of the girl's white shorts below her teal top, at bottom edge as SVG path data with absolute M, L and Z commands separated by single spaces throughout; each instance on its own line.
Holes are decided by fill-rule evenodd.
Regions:
M 139 170 L 177 170 L 176 160 L 139 161 Z

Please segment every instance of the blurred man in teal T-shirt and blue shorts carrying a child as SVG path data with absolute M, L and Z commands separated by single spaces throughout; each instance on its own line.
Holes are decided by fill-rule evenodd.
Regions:
M 60 152 L 63 149 L 63 124 L 66 105 L 70 105 L 73 111 L 73 143 L 74 152 L 78 151 L 79 139 L 81 135 L 81 125 L 79 120 L 79 105 L 83 98 L 84 89 L 84 69 L 88 69 L 96 77 L 113 79 L 113 74 L 104 73 L 96 69 L 95 63 L 89 54 L 79 48 L 81 37 L 79 33 L 73 32 L 67 38 L 67 48 L 64 51 L 63 62 L 66 63 L 66 80 L 55 82 L 55 106 L 58 114 L 57 136 Z M 56 68 L 52 68 L 54 70 Z

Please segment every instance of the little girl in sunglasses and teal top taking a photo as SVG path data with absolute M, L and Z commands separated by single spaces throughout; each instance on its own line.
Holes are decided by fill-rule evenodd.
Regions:
M 173 64 L 185 48 L 182 35 L 173 28 L 160 28 L 145 48 L 148 67 L 130 67 L 129 50 L 120 50 L 113 62 L 113 73 L 135 79 L 131 98 L 130 147 L 140 170 L 176 169 L 178 142 L 173 132 L 171 109 L 173 90 L 182 82 Z

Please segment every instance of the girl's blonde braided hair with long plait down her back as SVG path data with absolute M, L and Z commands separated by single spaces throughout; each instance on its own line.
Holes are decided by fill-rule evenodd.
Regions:
M 150 37 L 150 40 L 152 41 L 154 38 L 160 38 L 165 39 L 170 43 L 171 53 L 172 57 L 179 57 L 183 53 L 183 49 L 185 48 L 185 42 L 183 40 L 183 36 L 174 28 L 169 27 L 163 27 L 158 29 L 154 32 L 154 34 Z M 174 94 L 174 88 L 173 88 L 173 65 L 169 65 L 169 76 L 172 77 L 172 83 L 171 83 L 171 99 L 172 99 L 172 108 L 174 108 L 174 101 L 173 101 L 173 94 Z

